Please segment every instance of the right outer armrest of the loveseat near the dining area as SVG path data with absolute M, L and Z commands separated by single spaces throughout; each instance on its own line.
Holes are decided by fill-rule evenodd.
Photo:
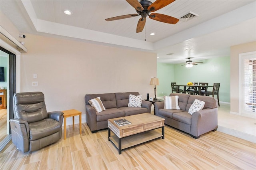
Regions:
M 218 128 L 218 109 L 202 109 L 194 112 L 191 119 L 191 135 L 198 137 Z

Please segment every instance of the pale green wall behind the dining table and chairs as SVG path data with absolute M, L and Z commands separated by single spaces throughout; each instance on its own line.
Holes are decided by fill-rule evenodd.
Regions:
M 169 95 L 171 82 L 177 84 L 186 84 L 189 81 L 206 82 L 209 85 L 220 83 L 220 101 L 230 103 L 230 57 L 205 59 L 198 62 L 204 63 L 191 68 L 181 66 L 182 64 L 157 63 L 157 77 L 160 83 L 157 87 L 157 96 Z

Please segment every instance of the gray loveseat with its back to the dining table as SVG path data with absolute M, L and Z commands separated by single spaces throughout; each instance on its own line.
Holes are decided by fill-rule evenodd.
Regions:
M 201 134 L 218 128 L 218 101 L 209 96 L 171 93 L 170 96 L 179 96 L 180 110 L 164 109 L 164 101 L 154 103 L 156 115 L 165 119 L 164 123 L 199 138 Z M 195 99 L 204 101 L 204 108 L 192 115 L 188 110 Z

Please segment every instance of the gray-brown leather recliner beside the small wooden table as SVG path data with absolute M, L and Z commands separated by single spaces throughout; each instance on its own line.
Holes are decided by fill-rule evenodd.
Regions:
M 58 141 L 63 112 L 47 112 L 42 92 L 16 93 L 14 119 L 10 119 L 12 142 L 22 152 L 34 151 Z

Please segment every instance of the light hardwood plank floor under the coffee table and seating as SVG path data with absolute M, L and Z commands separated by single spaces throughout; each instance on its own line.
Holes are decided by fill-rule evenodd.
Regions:
M 160 129 L 159 129 L 160 130 Z M 256 144 L 218 131 L 194 139 L 165 127 L 165 139 L 118 150 L 108 131 L 91 133 L 87 124 L 67 126 L 67 138 L 41 150 L 22 153 L 10 141 L 0 153 L 0 169 L 256 169 Z

